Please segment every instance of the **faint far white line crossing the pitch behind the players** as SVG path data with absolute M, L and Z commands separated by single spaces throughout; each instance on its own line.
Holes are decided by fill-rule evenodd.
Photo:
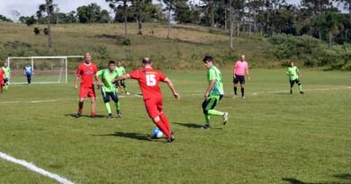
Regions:
M 306 89 L 304 92 L 313 92 L 313 91 L 328 91 L 328 90 L 349 90 L 351 89 L 351 86 L 345 86 L 345 87 L 336 87 L 336 88 L 317 88 L 317 89 Z M 251 92 L 247 93 L 246 96 L 257 96 L 259 94 L 270 94 L 270 93 L 276 93 L 276 92 L 288 92 L 287 90 L 284 91 L 271 91 L 271 92 Z M 187 95 L 181 95 L 182 96 L 200 96 L 202 93 L 193 93 L 193 94 L 187 94 Z M 142 98 L 142 95 L 139 94 L 133 94 L 129 96 L 118 96 L 118 98 L 123 99 L 123 98 L 132 98 L 132 97 L 137 97 L 137 98 Z M 96 99 L 99 99 L 98 97 Z M 78 101 L 78 99 L 53 99 L 53 100 L 47 100 L 47 101 L 1 101 L 0 104 L 11 104 L 11 103 L 44 103 L 44 102 L 53 102 L 53 101 Z

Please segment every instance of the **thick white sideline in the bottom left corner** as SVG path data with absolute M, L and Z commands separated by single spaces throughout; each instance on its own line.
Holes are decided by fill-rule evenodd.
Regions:
M 57 180 L 58 182 L 60 182 L 62 184 L 75 184 L 74 182 L 72 182 L 70 180 L 67 180 L 67 179 L 65 179 L 63 177 L 58 176 L 58 174 L 55 174 L 55 173 L 52 173 L 52 172 L 49 172 L 49 171 L 45 171 L 45 170 L 37 167 L 33 163 L 15 159 L 14 157 L 12 157 L 12 156 L 10 156 L 10 155 L 8 155 L 6 153 L 0 152 L 0 157 L 3 158 L 4 160 L 9 161 L 9 162 L 14 162 L 14 163 L 20 164 L 20 165 L 26 167 L 27 169 L 29 169 L 31 171 L 38 172 L 41 175 L 49 177 L 50 179 Z

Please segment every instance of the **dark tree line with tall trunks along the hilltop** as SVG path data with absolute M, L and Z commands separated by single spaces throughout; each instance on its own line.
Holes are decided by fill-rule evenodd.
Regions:
M 211 29 L 228 30 L 230 48 L 241 34 L 275 36 L 285 33 L 311 37 L 333 43 L 351 42 L 351 0 L 105 0 L 108 10 L 98 4 L 87 4 L 70 13 L 60 13 L 57 4 L 45 0 L 32 16 L 21 16 L 19 22 L 33 23 L 112 23 L 168 22 L 167 38 L 172 23 L 191 23 Z M 6 20 L 0 16 L 1 20 Z M 10 20 L 9 20 L 10 21 Z M 124 39 L 127 40 L 127 26 Z

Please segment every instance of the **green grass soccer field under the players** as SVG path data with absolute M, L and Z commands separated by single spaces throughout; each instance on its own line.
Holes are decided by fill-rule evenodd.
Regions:
M 165 72 L 165 113 L 175 142 L 149 139 L 148 118 L 138 83 L 121 96 L 122 118 L 108 119 L 100 91 L 97 118 L 77 110 L 73 78 L 67 84 L 12 85 L 0 93 L 0 152 L 32 162 L 75 183 L 351 183 L 350 73 L 302 70 L 305 94 L 289 94 L 285 70 L 252 70 L 246 99 L 232 99 L 224 72 L 225 97 L 202 130 L 203 72 Z M 114 107 L 112 106 L 114 111 Z M 115 114 L 115 113 L 114 113 Z M 0 183 L 57 183 L 0 158 Z

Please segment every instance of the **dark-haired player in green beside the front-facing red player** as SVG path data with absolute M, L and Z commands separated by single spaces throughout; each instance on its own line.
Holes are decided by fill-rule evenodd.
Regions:
M 112 83 L 112 80 L 118 77 L 117 72 L 114 70 L 115 65 L 116 63 L 111 60 L 108 68 L 99 70 L 96 73 L 97 83 L 99 86 L 101 86 L 101 93 L 103 94 L 104 106 L 109 114 L 108 118 L 113 118 L 110 107 L 110 97 L 112 101 L 114 101 L 114 106 L 116 107 L 118 117 L 121 118 L 121 104 L 118 100 L 116 86 Z M 102 78 L 103 82 L 101 82 L 100 77 Z

